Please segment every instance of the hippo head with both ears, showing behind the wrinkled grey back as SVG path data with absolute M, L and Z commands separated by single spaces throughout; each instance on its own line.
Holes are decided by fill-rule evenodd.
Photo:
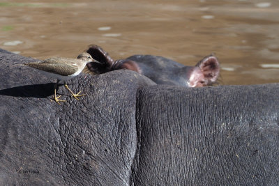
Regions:
M 104 73 L 112 70 L 128 69 L 138 72 L 156 84 L 169 84 L 183 87 L 201 87 L 216 83 L 220 65 L 216 56 L 205 56 L 195 66 L 186 66 L 162 56 L 133 55 L 127 59 L 114 61 L 98 45 L 89 45 L 84 52 L 103 64 L 88 63 L 91 72 Z

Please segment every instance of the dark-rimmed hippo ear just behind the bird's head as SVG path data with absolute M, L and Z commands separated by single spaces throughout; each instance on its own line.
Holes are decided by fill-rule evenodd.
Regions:
M 113 59 L 110 55 L 105 52 L 100 46 L 98 45 L 89 45 L 89 48 L 86 49 L 87 53 L 89 53 L 93 59 L 96 59 L 100 63 L 105 63 L 107 65 L 112 65 Z

